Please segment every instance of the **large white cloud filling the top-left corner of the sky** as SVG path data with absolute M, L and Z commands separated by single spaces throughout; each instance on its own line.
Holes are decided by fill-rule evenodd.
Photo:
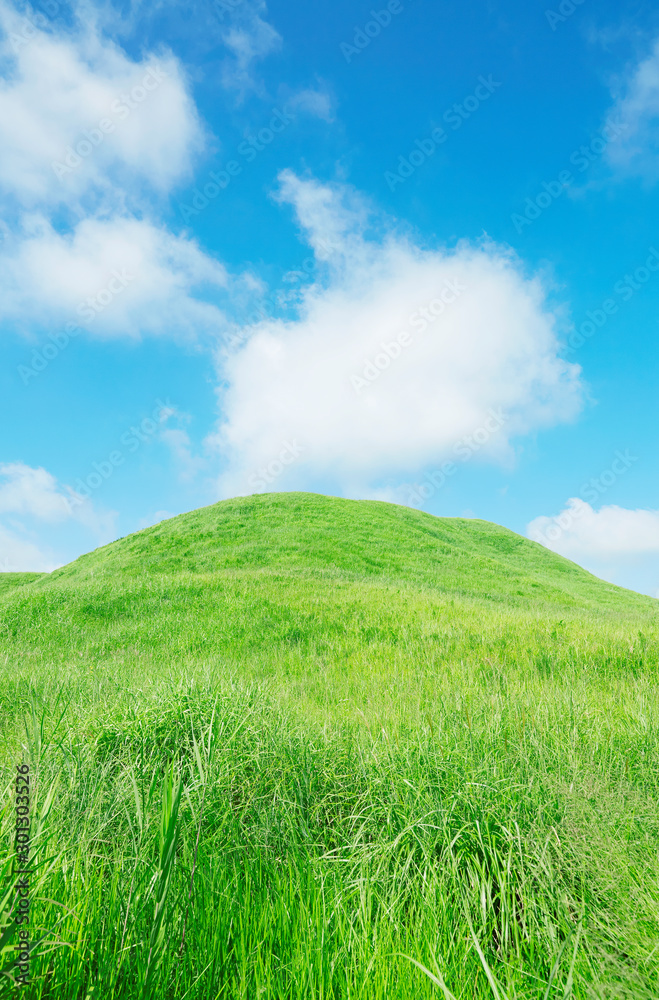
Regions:
M 171 54 L 135 61 L 89 23 L 25 37 L 26 23 L 0 2 L 0 190 L 28 207 L 92 192 L 114 205 L 190 171 L 203 130 Z

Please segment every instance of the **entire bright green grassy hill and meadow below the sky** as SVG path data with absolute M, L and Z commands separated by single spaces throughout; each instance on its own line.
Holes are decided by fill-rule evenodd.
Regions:
M 27 762 L 25 997 L 659 997 L 659 602 L 487 522 L 312 494 L 23 576 L 0 990 Z

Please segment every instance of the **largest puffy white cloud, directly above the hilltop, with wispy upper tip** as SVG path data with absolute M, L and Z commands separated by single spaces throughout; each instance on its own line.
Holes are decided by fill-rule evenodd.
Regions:
M 512 253 L 487 242 L 424 250 L 393 232 L 367 239 L 355 195 L 290 173 L 280 198 L 327 258 L 325 273 L 297 318 L 257 324 L 220 359 L 223 495 L 263 479 L 272 488 L 262 474 L 272 463 L 276 488 L 331 476 L 363 491 L 449 456 L 493 409 L 504 420 L 479 454 L 509 462 L 516 435 L 578 413 L 580 369 L 559 356 L 542 280 Z

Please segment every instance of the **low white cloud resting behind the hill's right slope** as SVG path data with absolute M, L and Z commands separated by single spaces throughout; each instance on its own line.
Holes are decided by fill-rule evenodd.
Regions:
M 612 583 L 655 595 L 659 587 L 659 511 L 571 497 L 560 514 L 536 517 L 529 538 Z

